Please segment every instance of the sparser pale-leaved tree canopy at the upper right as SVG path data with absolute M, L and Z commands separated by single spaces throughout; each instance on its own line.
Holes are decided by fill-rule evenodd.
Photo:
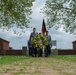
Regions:
M 42 12 L 49 28 L 63 27 L 70 33 L 76 31 L 76 0 L 46 0 Z

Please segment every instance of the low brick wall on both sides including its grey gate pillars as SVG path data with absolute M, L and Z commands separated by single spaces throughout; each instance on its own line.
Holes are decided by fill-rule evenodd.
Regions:
M 23 47 L 22 50 L 0 50 L 0 55 L 28 55 L 28 50 Z M 76 50 L 54 50 L 54 55 L 76 55 Z

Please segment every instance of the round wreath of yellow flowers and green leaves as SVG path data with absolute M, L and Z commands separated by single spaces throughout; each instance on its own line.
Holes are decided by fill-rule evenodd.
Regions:
M 47 45 L 47 39 L 43 35 L 37 35 L 34 37 L 32 40 L 32 44 L 34 45 L 35 48 L 37 49 L 43 49 Z

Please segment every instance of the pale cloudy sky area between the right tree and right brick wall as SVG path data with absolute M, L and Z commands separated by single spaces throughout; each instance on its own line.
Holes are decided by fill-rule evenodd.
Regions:
M 49 33 L 52 40 L 57 40 L 57 47 L 61 49 L 72 49 L 72 42 L 76 40 L 76 35 L 66 33 L 62 30 L 51 28 Z

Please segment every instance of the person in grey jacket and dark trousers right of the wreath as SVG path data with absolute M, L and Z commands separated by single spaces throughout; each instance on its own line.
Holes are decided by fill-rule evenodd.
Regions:
M 51 54 L 52 43 L 51 43 L 51 36 L 48 35 L 48 31 L 46 31 L 45 37 L 46 37 L 46 39 L 47 39 L 47 45 L 46 45 L 46 50 L 45 50 L 45 56 L 49 56 L 49 55 Z

